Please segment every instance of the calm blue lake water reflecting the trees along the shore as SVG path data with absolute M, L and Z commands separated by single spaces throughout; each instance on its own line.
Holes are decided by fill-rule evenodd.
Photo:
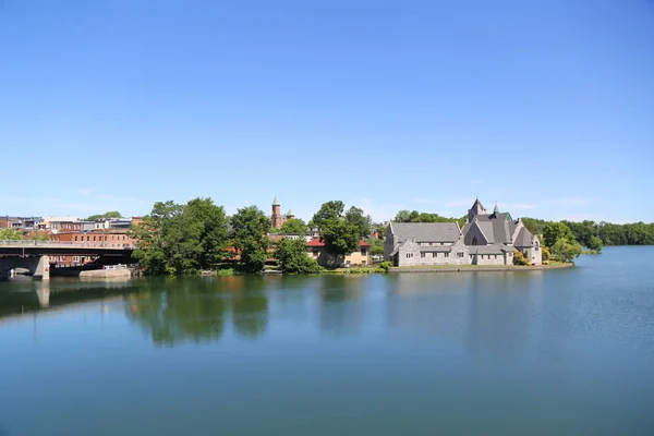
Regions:
M 435 434 L 654 434 L 654 247 L 552 271 L 0 283 L 0 436 Z

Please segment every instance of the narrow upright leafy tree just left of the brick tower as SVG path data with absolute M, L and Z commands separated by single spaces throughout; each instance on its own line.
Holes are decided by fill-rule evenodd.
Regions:
M 256 206 L 243 207 L 231 218 L 234 249 L 241 256 L 241 264 L 247 271 L 258 272 L 264 269 L 268 258 L 270 241 L 266 237 L 270 229 L 270 220 Z

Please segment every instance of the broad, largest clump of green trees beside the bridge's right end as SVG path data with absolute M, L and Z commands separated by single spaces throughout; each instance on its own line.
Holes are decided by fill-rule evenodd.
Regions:
M 209 269 L 221 261 L 229 242 L 225 210 L 210 198 L 186 205 L 157 202 L 130 233 L 138 241 L 132 255 L 148 275 Z

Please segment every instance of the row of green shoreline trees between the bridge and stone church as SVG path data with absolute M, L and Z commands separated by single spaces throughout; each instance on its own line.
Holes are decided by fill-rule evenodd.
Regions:
M 341 201 L 324 203 L 308 226 L 320 229 L 325 250 L 337 259 L 359 250 L 371 232 L 372 220 L 355 206 L 346 210 Z M 258 272 L 275 258 L 283 272 L 319 272 L 322 267 L 307 256 L 307 223 L 287 220 L 274 231 L 299 235 L 284 238 L 271 249 L 269 217 L 256 206 L 247 206 L 228 217 L 211 198 L 194 198 L 186 204 L 157 202 L 149 215 L 130 232 L 137 240 L 133 257 L 148 275 L 185 275 L 218 268 L 226 263 L 244 272 Z

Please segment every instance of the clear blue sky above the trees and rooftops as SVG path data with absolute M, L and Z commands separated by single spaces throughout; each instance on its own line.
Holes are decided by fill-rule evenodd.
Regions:
M 654 2 L 0 2 L 0 215 L 654 221 Z

